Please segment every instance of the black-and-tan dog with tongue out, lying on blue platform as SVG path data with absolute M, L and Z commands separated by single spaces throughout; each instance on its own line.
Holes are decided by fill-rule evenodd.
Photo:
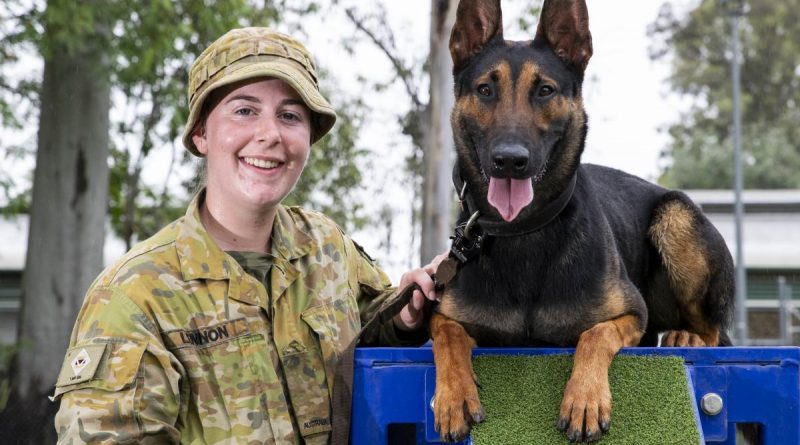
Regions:
M 484 240 L 430 319 L 443 440 L 465 438 L 484 417 L 476 344 L 575 347 L 554 419 L 572 441 L 609 429 L 608 369 L 620 348 L 655 346 L 659 334 L 662 346 L 730 344 L 733 261 L 699 208 L 580 163 L 588 23 L 583 0 L 546 0 L 534 39 L 513 42 L 500 0 L 458 5 L 454 178 L 462 218 L 475 216 L 470 230 Z

